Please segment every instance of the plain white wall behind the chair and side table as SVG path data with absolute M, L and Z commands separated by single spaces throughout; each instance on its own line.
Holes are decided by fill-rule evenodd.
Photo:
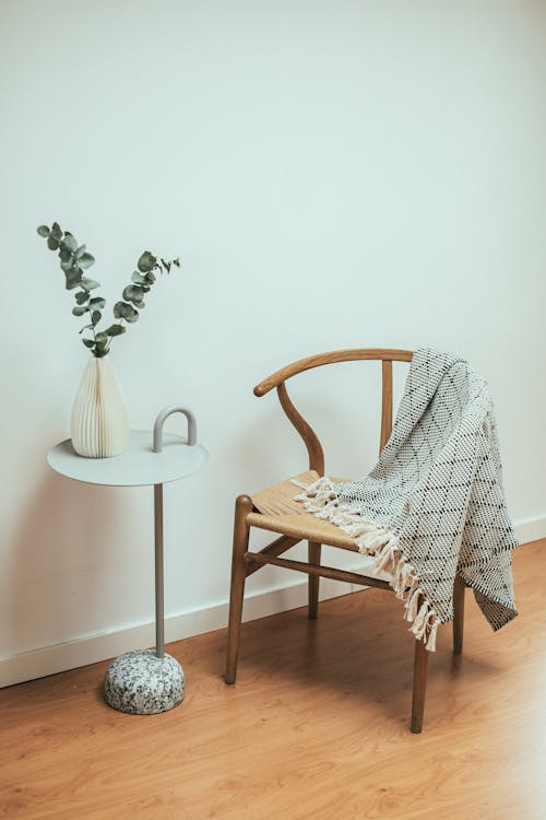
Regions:
M 211 452 L 166 489 L 168 613 L 225 602 L 235 495 L 305 467 L 252 386 L 313 352 L 467 356 L 494 391 L 513 516 L 546 534 L 545 9 L 1 3 L 1 655 L 153 612 L 151 490 L 45 465 L 86 353 L 43 222 L 87 243 L 110 305 L 144 248 L 183 259 L 112 355 L 133 426 L 187 402 Z M 347 364 L 295 384 L 334 475 L 371 462 L 377 377 Z

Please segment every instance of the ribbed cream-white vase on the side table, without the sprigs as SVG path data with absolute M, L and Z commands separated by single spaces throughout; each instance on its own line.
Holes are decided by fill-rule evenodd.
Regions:
M 86 458 L 119 456 L 127 446 L 127 410 L 108 356 L 93 356 L 85 366 L 72 408 L 70 434 L 75 452 Z

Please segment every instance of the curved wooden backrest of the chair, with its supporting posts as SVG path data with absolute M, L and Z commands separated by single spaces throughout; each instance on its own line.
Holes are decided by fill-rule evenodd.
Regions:
M 298 362 L 286 365 L 273 373 L 254 387 L 254 396 L 265 396 L 266 393 L 276 387 L 278 400 L 288 420 L 294 424 L 304 440 L 309 454 L 309 469 L 316 470 L 319 476 L 324 475 L 324 452 L 322 445 L 308 422 L 296 410 L 286 389 L 286 380 L 292 376 L 308 371 L 311 367 L 320 367 L 323 364 L 336 362 L 354 362 L 358 360 L 373 360 L 381 362 L 382 390 L 381 390 L 381 436 L 379 452 L 387 444 L 392 430 L 392 363 L 411 362 L 413 351 L 390 350 L 387 348 L 364 348 L 356 350 L 334 350 L 331 353 L 319 353 L 314 356 L 300 359 Z

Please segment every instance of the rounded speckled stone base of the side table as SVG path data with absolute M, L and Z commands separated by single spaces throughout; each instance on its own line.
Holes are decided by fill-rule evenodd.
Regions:
M 106 703 L 131 715 L 156 715 L 183 701 L 183 669 L 153 649 L 126 652 L 112 660 L 104 683 Z

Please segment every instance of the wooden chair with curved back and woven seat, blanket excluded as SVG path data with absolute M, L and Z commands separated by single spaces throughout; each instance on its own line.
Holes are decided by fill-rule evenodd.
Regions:
M 413 352 L 408 350 L 363 349 L 340 350 L 332 353 L 309 356 L 283 367 L 254 387 L 256 396 L 264 396 L 276 387 L 281 406 L 288 420 L 300 434 L 309 454 L 309 470 L 296 477 L 311 482 L 324 476 L 324 455 L 322 446 L 307 421 L 292 403 L 286 390 L 286 380 L 311 367 L 334 362 L 355 360 L 375 360 L 381 362 L 382 368 L 382 409 L 379 452 L 384 447 L 392 429 L 392 363 L 411 362 Z M 342 480 L 342 479 L 339 479 Z M 357 552 L 354 540 L 330 522 L 317 518 L 311 513 L 302 512 L 302 505 L 294 502 L 297 489 L 289 479 L 268 490 L 250 495 L 239 495 L 235 505 L 234 544 L 232 564 L 232 589 L 229 600 L 229 625 L 227 634 L 226 683 L 235 683 L 237 657 L 239 649 L 240 622 L 245 579 L 266 564 L 284 566 L 309 575 L 309 618 L 317 618 L 319 606 L 319 579 L 334 578 L 349 584 L 377 587 L 392 591 L 388 581 L 378 577 L 373 570 L 373 560 L 368 558 L 369 574 L 360 574 L 323 566 L 320 563 L 321 546 L 330 544 L 343 550 Z M 292 509 L 290 509 L 292 507 Z M 281 512 L 280 512 L 281 511 Z M 249 552 L 248 542 L 251 527 L 265 529 L 280 535 L 274 541 L 259 552 Z M 301 540 L 308 541 L 308 563 L 280 558 L 286 550 Z M 366 563 L 366 559 L 363 557 Z M 365 566 L 368 572 L 368 565 Z M 464 617 L 464 582 L 458 577 L 453 590 L 453 651 L 462 652 Z M 402 621 L 402 611 L 401 611 Z M 402 625 L 402 624 L 401 624 Z M 427 682 L 427 664 L 429 653 L 423 641 L 414 642 L 414 677 L 411 730 L 420 733 L 425 708 Z

